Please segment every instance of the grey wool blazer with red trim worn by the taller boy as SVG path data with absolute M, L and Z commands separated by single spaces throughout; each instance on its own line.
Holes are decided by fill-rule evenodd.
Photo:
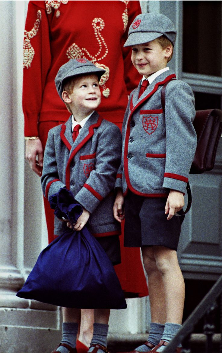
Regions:
M 138 98 L 141 83 L 131 92 L 122 134 L 121 166 L 115 187 L 145 197 L 167 197 L 169 189 L 185 192 L 197 145 L 192 121 L 192 90 L 180 80 L 166 88 L 165 114 L 161 88 L 175 77 L 172 70 L 160 74 Z

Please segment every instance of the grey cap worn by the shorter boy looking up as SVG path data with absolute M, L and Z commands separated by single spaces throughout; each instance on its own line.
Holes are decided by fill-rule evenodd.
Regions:
M 94 73 L 100 80 L 105 72 L 105 70 L 95 66 L 87 59 L 70 59 L 66 64 L 60 67 L 56 75 L 55 85 L 58 95 L 62 100 L 63 84 L 67 78 Z

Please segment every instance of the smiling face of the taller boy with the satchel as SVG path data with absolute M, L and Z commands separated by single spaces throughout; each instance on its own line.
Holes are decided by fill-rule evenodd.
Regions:
M 167 66 L 171 46 L 163 49 L 156 41 L 132 46 L 131 60 L 137 71 L 146 78 Z

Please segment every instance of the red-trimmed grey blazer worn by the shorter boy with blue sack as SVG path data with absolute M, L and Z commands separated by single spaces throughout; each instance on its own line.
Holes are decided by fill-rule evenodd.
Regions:
M 46 198 L 61 187 L 72 191 L 76 202 L 90 213 L 88 229 L 94 236 L 119 235 L 113 217 L 113 188 L 121 159 L 119 128 L 94 112 L 73 143 L 71 116 L 49 131 L 44 152 L 42 190 Z M 55 234 L 66 223 L 55 217 Z

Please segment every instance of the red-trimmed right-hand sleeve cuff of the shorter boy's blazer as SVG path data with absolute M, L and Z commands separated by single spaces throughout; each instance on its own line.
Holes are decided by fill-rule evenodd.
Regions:
M 90 185 L 84 184 L 82 189 L 75 195 L 75 200 L 87 211 L 93 213 L 103 200 L 103 196 L 95 191 Z

